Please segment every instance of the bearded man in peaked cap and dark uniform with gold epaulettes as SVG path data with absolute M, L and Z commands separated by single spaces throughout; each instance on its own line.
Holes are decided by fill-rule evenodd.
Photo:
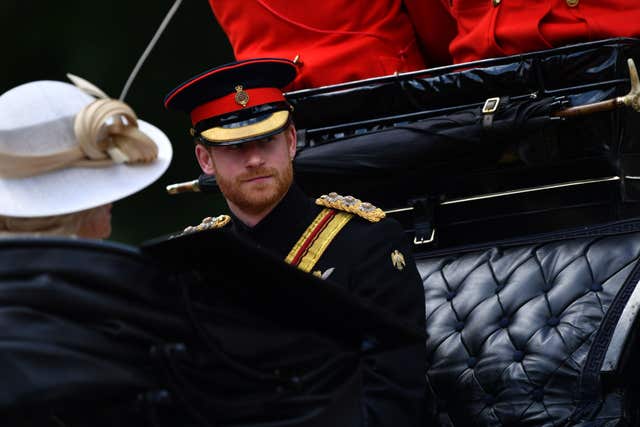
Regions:
M 207 218 L 199 226 L 188 228 L 187 234 L 211 228 L 232 230 L 286 263 L 346 289 L 365 305 L 383 309 L 409 327 L 424 330 L 422 281 L 400 225 L 385 218 L 379 208 L 355 197 L 331 193 L 313 200 L 294 184 L 296 132 L 282 88 L 295 76 L 296 67 L 288 60 L 246 60 L 207 71 L 167 95 L 167 108 L 190 115 L 197 160 L 205 173 L 215 175 L 230 210 L 230 216 Z M 327 318 L 331 311 L 332 307 L 326 307 Z M 292 326 L 295 321 L 291 319 Z M 235 325 L 237 322 L 230 327 Z M 326 340 L 316 345 L 318 341 L 312 344 L 280 332 L 269 333 L 268 340 L 264 339 L 266 332 L 256 333 L 260 336 L 251 338 L 255 347 L 243 355 L 237 343 L 227 347 L 237 351 L 228 352 L 235 352 L 236 360 L 247 363 L 251 358 L 266 369 L 273 367 L 270 358 L 274 364 L 286 364 L 284 360 L 294 358 L 291 352 L 305 351 L 307 354 L 295 363 L 289 362 L 291 366 L 284 370 L 297 372 L 299 366 L 292 365 L 300 365 L 301 358 L 306 360 L 306 374 L 292 378 L 316 378 L 309 380 L 305 392 L 300 392 L 308 392 L 307 396 L 317 397 L 317 382 L 329 382 L 331 373 L 344 369 L 344 364 L 339 367 L 328 362 L 335 362 L 335 358 Z M 220 340 L 225 335 L 230 340 L 234 336 L 223 327 L 217 334 Z M 269 342 L 256 344 L 261 340 Z M 260 349 L 266 347 L 269 350 L 261 354 Z M 423 425 L 424 342 L 385 351 L 374 348 L 375 342 L 365 343 L 357 367 L 347 369 L 351 378 L 348 382 L 357 389 L 356 409 L 343 411 L 351 415 L 339 417 L 334 425 Z M 322 364 L 326 366 L 320 367 Z M 322 369 L 326 374 L 309 374 Z M 281 375 L 282 369 L 275 371 Z M 268 412 L 268 405 L 265 408 Z M 270 425 L 280 425 L 277 422 L 285 422 L 289 416 L 274 420 L 267 415 L 254 414 L 261 421 L 275 423 Z

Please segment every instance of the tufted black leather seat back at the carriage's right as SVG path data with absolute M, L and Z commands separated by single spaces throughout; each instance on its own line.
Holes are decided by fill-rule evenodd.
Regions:
M 419 259 L 427 378 L 441 420 L 542 426 L 624 418 L 624 393 L 605 391 L 600 367 L 638 281 L 640 233 L 595 234 Z

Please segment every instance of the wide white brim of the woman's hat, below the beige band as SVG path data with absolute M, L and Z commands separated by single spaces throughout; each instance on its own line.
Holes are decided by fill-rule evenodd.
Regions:
M 173 150 L 167 136 L 143 120 L 138 126 L 158 146 L 158 157 L 146 164 L 71 167 L 43 175 L 0 179 L 0 215 L 63 215 L 115 202 L 156 181 L 169 167 Z

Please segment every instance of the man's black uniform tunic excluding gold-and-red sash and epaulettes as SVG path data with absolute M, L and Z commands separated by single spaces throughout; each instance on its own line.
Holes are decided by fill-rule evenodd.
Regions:
M 228 227 L 285 259 L 322 209 L 293 185 L 255 227 L 247 227 L 237 218 Z M 397 319 L 424 330 L 422 282 L 396 221 L 383 219 L 372 223 L 354 215 L 331 241 L 312 272 L 339 284 L 366 304 L 388 310 Z M 326 312 L 331 316 L 331 307 Z M 288 344 L 306 345 L 308 351 L 313 348 L 309 343 Z M 331 351 L 338 350 L 325 345 L 320 353 Z M 345 420 L 341 425 L 423 425 L 424 343 L 384 352 L 370 349 L 361 356 L 356 368 L 361 381 L 360 419 Z

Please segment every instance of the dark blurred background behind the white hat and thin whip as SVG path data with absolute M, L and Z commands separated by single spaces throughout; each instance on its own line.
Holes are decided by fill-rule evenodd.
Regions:
M 32 80 L 66 81 L 72 73 L 117 98 L 173 3 L 1 0 L 0 93 Z M 164 110 L 162 99 L 184 80 L 232 60 L 207 0 L 183 0 L 125 99 L 167 134 L 173 161 L 153 185 L 114 205 L 110 240 L 137 244 L 226 211 L 220 196 L 166 194 L 166 185 L 197 178 L 200 169 L 187 133 L 189 118 Z

